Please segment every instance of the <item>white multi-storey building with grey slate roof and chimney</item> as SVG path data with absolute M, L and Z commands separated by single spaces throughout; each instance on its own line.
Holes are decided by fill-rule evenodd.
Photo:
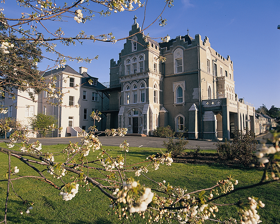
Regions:
M 47 137 L 78 136 L 79 132 L 88 131 L 88 128 L 94 125 L 94 120 L 90 117 L 91 112 L 104 110 L 102 104 L 109 104 L 108 98 L 102 92 L 98 92 L 106 87 L 98 82 L 98 78 L 90 76 L 84 67 L 80 67 L 78 73 L 70 66 L 65 65 L 64 68 L 45 72 L 43 76 L 46 82 L 50 77 L 56 77 L 56 89 L 65 93 L 60 99 L 62 105 L 56 105 L 58 103 L 56 98 L 51 99 L 52 104 L 49 104 L 47 102 L 49 100 L 47 91 L 42 91 L 35 96 L 35 101 L 32 101 L 28 92 L 14 90 L 17 94 L 15 99 L 6 96 L 0 102 L 3 107 L 8 107 L 8 113 L 4 116 L 14 117 L 28 126 L 28 118 L 33 115 L 38 113 L 53 115 L 58 119 L 58 128 L 63 127 L 63 130 L 61 134 L 58 134 L 56 130 Z M 105 115 L 102 115 L 101 121 L 95 123 L 95 125 L 99 131 L 105 130 Z M 37 137 L 41 136 L 38 135 Z

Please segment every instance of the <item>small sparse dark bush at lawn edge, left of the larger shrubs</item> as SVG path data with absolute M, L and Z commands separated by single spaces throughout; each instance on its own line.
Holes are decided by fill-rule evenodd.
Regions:
M 168 142 L 163 142 L 163 146 L 166 148 L 166 152 L 171 152 L 171 156 L 175 158 L 182 155 L 185 150 L 184 146 L 188 143 L 189 141 L 184 140 L 183 133 L 180 133 L 178 139 L 170 138 Z

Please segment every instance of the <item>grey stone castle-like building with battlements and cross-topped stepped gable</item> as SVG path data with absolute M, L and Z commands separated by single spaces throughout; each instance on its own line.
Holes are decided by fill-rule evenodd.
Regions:
M 157 43 L 134 20 L 119 60 L 110 61 L 110 86 L 102 90 L 110 98 L 106 128 L 152 135 L 170 125 L 193 139 L 229 139 L 235 128 L 255 130 L 253 105 L 235 92 L 230 56 L 199 34 Z

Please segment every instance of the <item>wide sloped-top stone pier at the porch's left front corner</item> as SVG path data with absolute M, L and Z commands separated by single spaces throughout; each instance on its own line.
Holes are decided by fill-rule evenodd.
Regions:
M 202 122 L 203 138 L 217 140 L 217 118 L 213 111 L 205 111 Z

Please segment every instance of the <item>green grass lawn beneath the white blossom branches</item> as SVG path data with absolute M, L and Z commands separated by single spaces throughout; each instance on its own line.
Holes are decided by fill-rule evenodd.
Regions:
M 5 147 L 2 143 L 0 146 Z M 58 152 L 63 149 L 64 145 L 44 146 L 44 151 Z M 122 152 L 118 147 L 104 146 L 110 149 L 112 156 L 119 155 Z M 140 162 L 146 159 L 148 155 L 156 154 L 160 149 L 153 148 L 130 148 L 127 153 L 127 163 Z M 206 152 L 203 150 L 203 152 Z M 98 152 L 99 153 L 99 152 Z M 124 154 L 124 153 L 123 153 Z M 97 152 L 90 153 L 87 157 L 89 160 L 96 158 Z M 56 156 L 56 161 L 62 158 Z M 0 154 L 0 177 L 7 172 L 8 159 L 7 155 Z M 26 167 L 18 159 L 12 158 L 12 167 L 18 166 L 20 169 L 19 175 L 35 174 L 31 168 Z M 41 168 L 42 169 L 42 168 Z M 90 176 L 98 175 L 94 171 L 90 172 Z M 133 172 L 131 176 L 133 177 Z M 262 176 L 262 172 L 256 168 L 229 168 L 223 166 L 209 165 L 194 165 L 173 163 L 170 167 L 166 165 L 160 166 L 159 170 L 149 170 L 147 176 L 155 181 L 162 182 L 166 180 L 173 186 L 186 187 L 189 192 L 202 188 L 208 188 L 216 184 L 220 179 L 231 177 L 237 179 L 237 186 L 245 186 L 256 183 Z M 55 180 L 50 175 L 50 180 L 58 185 L 59 181 Z M 134 176 L 135 178 L 135 176 Z M 136 178 L 135 178 L 136 179 Z M 146 186 L 156 188 L 155 183 L 145 179 L 142 175 L 138 177 L 140 183 L 145 183 Z M 273 183 L 266 186 L 261 186 L 254 189 L 242 190 L 229 195 L 226 199 L 220 199 L 219 203 L 233 203 L 238 199 L 248 196 L 255 196 L 262 200 L 265 204 L 264 208 L 260 208 L 258 214 L 263 223 L 280 223 L 279 212 L 279 183 Z M 110 200 L 105 197 L 96 188 L 91 188 L 90 192 L 82 187 L 79 188 L 78 194 L 70 201 L 63 201 L 58 195 L 59 191 L 49 186 L 48 184 L 34 179 L 20 179 L 13 181 L 13 186 L 17 194 L 23 199 L 33 201 L 34 206 L 30 214 L 20 215 L 19 210 L 22 208 L 21 199 L 19 199 L 12 189 L 10 190 L 8 203 L 8 220 L 9 223 L 54 223 L 54 224 L 105 224 L 105 223 L 146 223 L 147 220 L 142 220 L 138 216 L 132 217 L 129 220 L 118 220 L 113 210 L 109 208 Z M 7 182 L 0 182 L 0 222 L 4 217 L 4 207 L 7 193 Z M 223 207 L 217 213 L 218 218 L 237 217 L 236 207 Z M 110 213 L 108 215 L 108 213 Z

